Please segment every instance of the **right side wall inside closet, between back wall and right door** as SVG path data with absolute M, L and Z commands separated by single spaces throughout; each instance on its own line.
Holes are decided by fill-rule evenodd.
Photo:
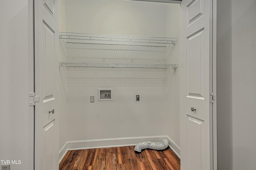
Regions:
M 180 5 L 166 7 L 166 37 L 180 37 Z M 166 52 L 167 63 L 179 64 L 180 43 Z M 180 147 L 180 73 L 179 69 L 169 70 L 167 74 L 166 110 L 168 117 L 167 135 Z M 180 153 L 179 153 L 180 154 Z

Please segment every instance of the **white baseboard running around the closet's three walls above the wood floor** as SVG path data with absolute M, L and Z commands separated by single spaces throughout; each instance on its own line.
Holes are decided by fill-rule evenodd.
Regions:
M 180 158 L 180 147 L 172 141 L 168 136 L 146 136 L 146 137 L 124 137 L 110 139 L 91 139 L 82 141 L 67 141 L 59 151 L 59 162 L 63 159 L 68 150 L 94 149 L 94 148 L 110 148 L 110 147 L 125 147 L 135 146 L 143 141 L 160 142 L 167 139 L 169 147 Z

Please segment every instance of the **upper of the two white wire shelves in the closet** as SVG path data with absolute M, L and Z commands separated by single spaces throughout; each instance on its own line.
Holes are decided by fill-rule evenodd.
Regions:
M 170 44 L 175 45 L 178 41 L 178 38 L 167 37 L 143 37 L 132 35 L 109 35 L 70 32 L 59 32 L 59 38 L 63 39 L 66 43 L 136 45 L 151 47 L 167 47 Z

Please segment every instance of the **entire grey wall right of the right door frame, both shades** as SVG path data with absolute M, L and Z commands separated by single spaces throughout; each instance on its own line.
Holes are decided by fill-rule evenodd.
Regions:
M 256 1 L 217 1 L 218 170 L 256 167 Z

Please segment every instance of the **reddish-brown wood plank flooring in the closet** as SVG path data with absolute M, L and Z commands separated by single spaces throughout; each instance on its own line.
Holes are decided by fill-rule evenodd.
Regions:
M 70 150 L 59 170 L 180 170 L 180 158 L 169 147 L 134 152 L 134 146 Z

